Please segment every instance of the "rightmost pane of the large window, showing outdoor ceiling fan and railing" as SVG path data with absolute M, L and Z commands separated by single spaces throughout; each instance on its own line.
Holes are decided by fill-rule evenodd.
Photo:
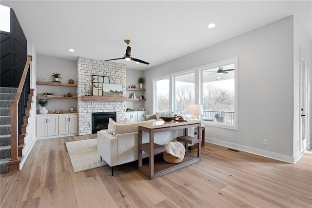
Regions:
M 237 58 L 213 63 L 201 71 L 202 122 L 237 129 Z

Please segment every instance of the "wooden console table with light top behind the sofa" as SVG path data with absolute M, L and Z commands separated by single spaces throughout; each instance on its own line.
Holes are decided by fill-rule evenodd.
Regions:
M 165 151 L 164 146 L 157 145 L 154 141 L 154 133 L 162 131 L 172 131 L 177 129 L 184 129 L 184 137 L 178 137 L 177 140 L 187 144 L 198 144 L 200 143 L 200 134 L 197 134 L 197 138 L 188 137 L 187 129 L 196 127 L 197 132 L 200 132 L 200 121 L 188 120 L 187 122 L 164 122 L 164 121 L 151 121 L 144 122 L 138 127 L 138 170 L 146 175 L 149 179 L 154 179 L 159 176 L 165 175 L 182 167 L 191 165 L 200 161 L 200 145 L 198 145 L 197 155 L 189 153 L 186 149 L 184 159 L 181 163 L 172 164 L 167 163 L 164 160 L 154 161 L 154 155 L 161 154 Z M 142 144 L 142 131 L 149 133 L 149 143 Z M 149 154 L 149 164 L 142 163 L 142 151 Z

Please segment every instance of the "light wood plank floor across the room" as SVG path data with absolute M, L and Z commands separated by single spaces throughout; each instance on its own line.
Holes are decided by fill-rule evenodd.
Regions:
M 292 165 L 206 143 L 201 162 L 149 180 L 136 162 L 74 173 L 65 142 L 90 138 L 36 141 L 22 170 L 0 175 L 0 207 L 312 207 L 311 149 Z

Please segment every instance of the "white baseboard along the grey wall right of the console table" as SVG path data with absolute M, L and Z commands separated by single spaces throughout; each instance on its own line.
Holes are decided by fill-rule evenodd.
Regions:
M 275 153 L 275 152 L 266 151 L 263 149 L 257 149 L 257 148 L 253 148 L 250 146 L 237 145 L 234 143 L 224 142 L 224 141 L 215 140 L 215 139 L 211 139 L 211 138 L 207 138 L 207 137 L 205 138 L 205 141 L 208 143 L 215 144 L 215 145 L 226 146 L 226 147 L 238 149 L 241 151 L 249 152 L 249 153 L 252 153 L 255 155 L 260 155 L 260 156 L 271 158 L 274 160 L 283 161 L 286 163 L 295 164 L 301 157 L 300 154 L 299 155 L 297 154 L 295 157 L 291 157 L 291 156 L 282 155 L 282 154 Z

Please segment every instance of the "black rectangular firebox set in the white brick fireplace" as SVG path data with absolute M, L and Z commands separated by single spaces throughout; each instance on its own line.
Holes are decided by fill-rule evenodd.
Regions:
M 92 133 L 95 134 L 101 129 L 107 129 L 109 118 L 116 121 L 116 112 L 92 113 Z

